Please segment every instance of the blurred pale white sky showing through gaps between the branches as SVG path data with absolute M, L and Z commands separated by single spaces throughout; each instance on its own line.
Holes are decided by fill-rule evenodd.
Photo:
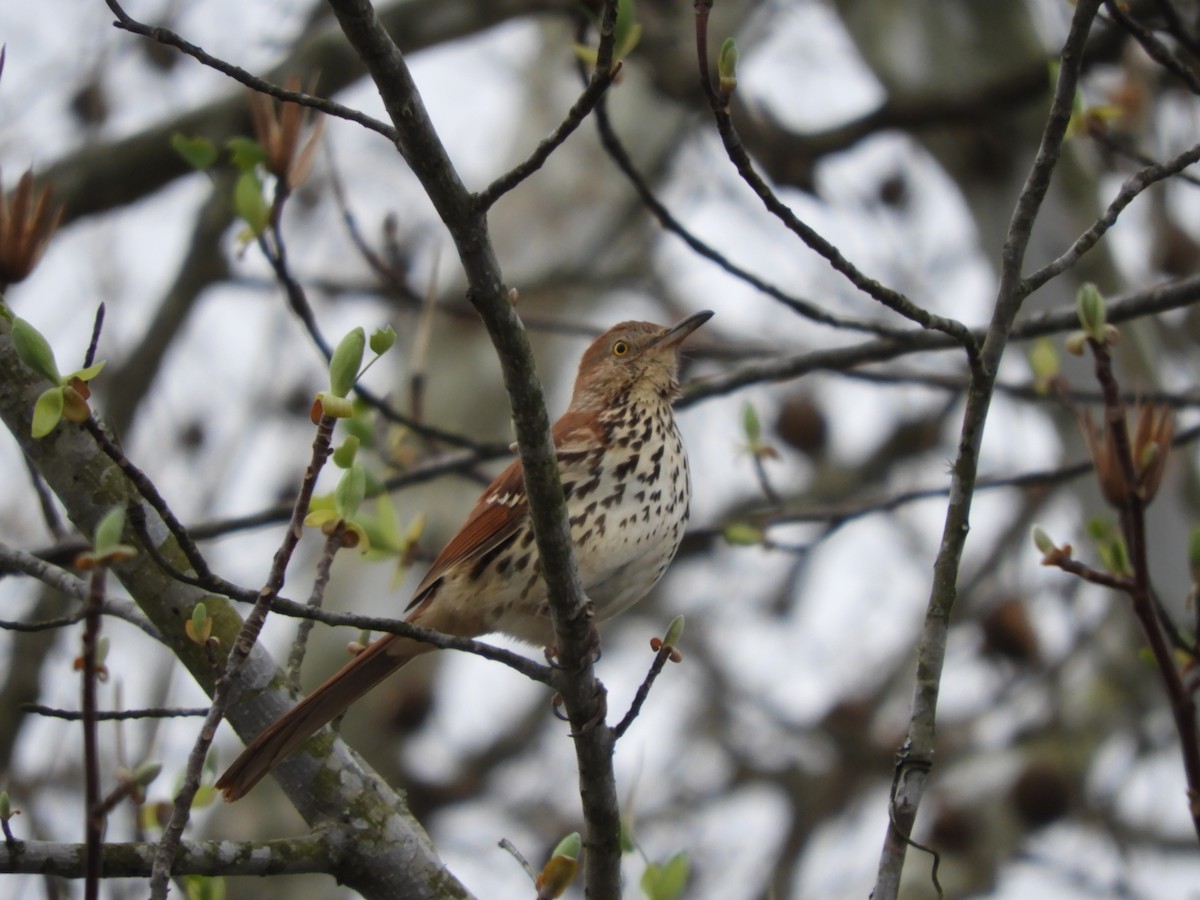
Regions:
M 128 8 L 136 17 L 148 19 L 164 6 L 131 2 Z M 180 8 L 181 14 L 173 28 L 206 50 L 251 71 L 259 71 L 274 61 L 308 13 L 308 4 L 266 0 L 204 0 L 182 4 Z M 779 5 L 773 10 L 778 11 Z M 0 5 L 0 40 L 8 48 L 0 79 L 0 122 L 4 124 L 0 167 L 6 185 L 30 163 L 46 167 L 88 140 L 66 112 L 66 100 L 76 85 L 62 78 L 62 73 L 79 71 L 79 60 L 85 61 L 85 67 L 103 67 L 110 78 L 112 96 L 120 98 L 113 103 L 113 116 L 103 126 L 103 138 L 137 131 L 229 90 L 223 77 L 190 60 L 180 60 L 167 74 L 150 68 L 137 48 L 139 38 L 115 31 L 109 20 L 110 13 L 100 0 Z M 238 23 L 236 29 L 228 26 L 230 20 Z M 865 112 L 878 100 L 877 85 L 838 31 L 836 19 L 820 4 L 800 2 L 788 14 L 769 20 L 772 28 L 762 29 L 758 23 L 762 34 L 740 43 L 744 65 L 739 91 L 756 96 L 763 107 L 799 127 L 834 124 Z M 516 143 L 524 146 L 535 139 L 528 134 L 505 134 L 504 130 L 506 124 L 520 121 L 516 115 L 523 98 L 520 72 L 528 55 L 540 52 L 540 42 L 539 32 L 532 26 L 505 26 L 452 48 L 418 54 L 410 60 L 426 104 L 468 184 L 481 185 L 497 174 L 494 145 Z M 485 64 L 487 77 L 480 77 L 479 67 Z M 630 65 L 636 66 L 636 54 Z M 497 77 L 497 72 L 509 72 L 511 78 Z M 564 59 L 563 78 L 574 85 L 572 77 Z M 815 89 L 796 90 L 798 84 Z M 617 90 L 619 92 L 619 85 Z M 378 97 L 366 83 L 340 100 L 382 114 Z M 479 142 L 480 133 L 492 136 L 491 143 Z M 348 181 L 360 221 L 378 221 L 397 206 L 410 210 L 413 216 L 427 215 L 422 211 L 427 210 L 427 204 L 422 203 L 413 180 L 403 173 L 402 163 L 386 145 L 341 124 L 329 127 L 326 134 L 334 142 L 338 163 L 347 172 L 354 172 Z M 576 139 L 592 139 L 588 126 Z M 700 236 L 725 247 L 746 268 L 770 281 L 797 286 L 803 295 L 839 304 L 840 312 L 877 313 L 868 300 L 811 253 L 797 247 L 779 254 L 775 251 L 778 226 L 756 206 L 731 205 L 731 198 L 737 198 L 742 188 L 733 174 L 722 169 L 713 138 L 695 142 L 686 149 L 684 160 L 688 164 L 679 166 L 662 198 Z M 694 167 L 704 167 L 708 173 L 707 190 L 697 191 L 689 182 L 688 169 Z M 911 196 L 916 198 L 902 221 L 889 221 L 886 211 L 871 206 L 863 196 L 876 184 L 876 173 L 889 170 L 905 173 Z M 817 180 L 821 199 L 794 192 L 785 193 L 785 199 L 863 270 L 918 298 L 936 312 L 954 314 L 968 324 L 984 319 L 992 289 L 991 275 L 974 246 L 972 224 L 954 186 L 919 149 L 905 139 L 882 136 L 823 164 Z M 137 340 L 149 311 L 174 277 L 179 253 L 188 240 L 192 215 L 206 191 L 204 176 L 196 175 L 134 208 L 74 224 L 58 238 L 36 276 L 11 292 L 10 299 L 18 314 L 52 336 L 60 367 L 77 365 L 86 346 L 92 311 L 101 300 L 109 301 L 101 356 L 118 358 L 122 348 Z M 433 235 L 433 244 L 440 240 L 437 227 L 422 227 Z M 440 271 L 446 281 L 452 281 L 454 260 L 448 248 L 449 242 L 444 241 Z M 362 269 L 340 228 L 300 232 L 290 251 L 294 259 L 302 260 L 305 272 L 346 265 Z M 221 406 L 224 397 L 233 397 L 235 408 L 248 407 L 242 403 L 247 395 L 260 396 L 264 403 L 272 406 L 282 391 L 282 388 L 275 390 L 276 382 L 293 384 L 307 373 L 316 388 L 322 378 L 314 350 L 293 352 L 294 342 L 302 338 L 277 292 L 257 286 L 256 282 L 268 277 L 265 265 L 254 253 L 247 253 L 234 265 L 247 278 L 246 286 L 210 292 L 204 298 L 186 335 L 172 352 L 172 367 L 145 404 L 138 431 L 127 445 L 131 456 L 145 464 L 185 521 L 257 510 L 274 500 L 281 487 L 294 481 L 307 458 L 310 438 L 302 424 L 294 427 L 270 419 L 258 426 L 253 448 L 247 449 L 241 439 L 248 427 L 247 420 L 218 412 L 227 409 Z M 718 311 L 710 328 L 719 335 L 782 349 L 830 340 L 828 332 L 781 314 L 773 301 L 716 272 L 673 239 L 660 240 L 655 265 L 674 280 L 679 295 L 696 298 L 696 308 Z M 636 313 L 641 301 L 631 298 L 626 302 L 630 313 Z M 340 335 L 356 324 L 368 328 L 383 324 L 380 317 L 384 314 L 374 305 L 353 302 L 336 308 L 326 305 L 320 313 L 326 335 Z M 593 324 L 602 326 L 606 323 L 596 319 Z M 576 342 L 564 353 L 575 356 L 577 352 Z M 1013 377 L 1021 376 L 1019 360 L 1008 365 L 1013 366 Z M 264 379 L 264 372 L 277 373 L 277 379 Z M 395 368 L 379 366 L 372 372 L 370 383 L 386 390 L 397 374 Z M 564 373 L 559 380 L 565 385 L 568 378 Z M 880 388 L 834 378 L 814 379 L 814 390 L 820 392 L 826 408 L 838 410 L 830 420 L 832 452 L 851 458 L 870 452 L 896 416 L 914 415 L 940 402 L 938 397 L 912 389 Z M 559 404 L 565 402 L 562 389 L 552 389 L 551 397 L 557 397 Z M 746 400 L 758 407 L 764 421 L 774 419 L 779 394 L 766 389 L 694 407 L 682 419 L 696 479 L 704 485 L 694 503 L 694 521 L 700 526 L 712 524 L 732 498 L 754 493 L 749 463 L 740 458 L 730 466 L 731 442 L 737 442 L 739 410 Z M 557 413 L 560 408 L 551 412 Z M 244 414 L 252 416 L 253 412 L 244 409 Z M 196 458 L 178 452 L 151 454 L 164 440 L 163 436 L 174 436 L 196 418 L 203 419 L 209 428 L 204 479 L 196 478 Z M 956 416 L 952 416 L 952 421 L 956 425 Z M 1018 434 L 1019 438 L 1014 437 Z M 173 438 L 166 440 L 169 449 Z M 1056 439 L 1040 418 L 997 401 L 988 430 L 983 472 L 1050 466 L 1057 461 L 1057 454 Z M 0 482 L 0 540 L 20 547 L 38 546 L 46 535 L 36 524 L 37 517 L 30 512 L 28 488 L 20 476 L 23 467 L 11 442 L 0 442 L 0 466 L 18 475 Z M 779 478 L 790 478 L 784 467 L 778 472 Z M 214 474 L 215 478 L 210 476 Z M 906 474 L 912 479 L 904 485 L 906 487 L 946 481 L 944 468 L 910 469 Z M 464 496 L 463 510 L 468 502 L 469 496 Z M 991 518 L 986 510 L 990 504 L 1002 504 L 1004 499 L 980 497 L 977 503 L 973 527 L 977 536 L 985 538 Z M 746 624 L 730 601 L 728 584 L 738 584 L 739 601 L 756 602 L 756 583 L 772 583 L 790 565 L 781 554 L 722 548 L 703 564 L 691 562 L 679 566 L 670 584 L 672 602 L 689 616 L 690 623 L 696 623 L 694 631 L 689 626 L 696 640 L 715 634 L 734 638 L 731 653 L 737 662 L 732 671 L 738 690 L 776 713 L 784 712 L 790 721 L 811 721 L 841 697 L 847 685 L 871 677 L 863 672 L 863 659 L 888 661 L 902 659 L 907 653 L 924 611 L 942 514 L 940 503 L 920 504 L 895 518 L 865 520 L 844 528 L 812 554 L 803 578 L 803 600 L 784 620 L 773 622 L 769 630 Z M 1003 520 L 1002 516 L 996 518 Z M 1064 515 L 1063 520 L 1069 521 L 1069 516 Z M 1052 521 L 1048 524 L 1051 533 L 1061 533 L 1054 530 Z M 1063 524 L 1063 529 L 1068 527 Z M 256 584 L 265 574 L 274 541 L 274 534 L 239 536 L 216 545 L 211 558 L 216 568 L 234 581 Z M 870 565 L 862 564 L 864 546 L 872 547 Z M 1028 564 L 1032 570 L 1036 564 L 1032 551 Z M 714 580 L 709 565 L 716 566 L 730 581 Z M 362 593 L 378 596 L 386 592 L 388 576 L 384 571 L 359 575 L 356 583 L 359 588 L 364 583 L 376 584 L 378 590 Z M 1042 577 L 1040 572 L 1031 571 L 1027 582 L 1036 584 Z M 302 583 L 302 578 L 295 578 L 295 583 Z M 881 604 L 883 595 L 886 605 Z M 0 617 L 18 618 L 31 596 L 30 586 L 12 578 L 0 581 Z M 390 612 L 398 612 L 398 607 Z M 108 628 L 106 625 L 106 630 Z M 628 706 L 648 661 L 644 635 L 660 628 L 661 623 L 640 620 L 630 629 L 637 636 L 636 642 L 606 644 L 601 677 L 611 690 L 611 709 Z M 149 680 L 157 686 L 156 679 L 145 677 L 146 642 L 126 637 L 116 625 L 112 635 L 114 646 L 125 644 L 127 640 L 125 646 L 138 648 L 127 656 L 116 654 L 109 661 L 113 683 L 124 688 L 124 702 L 127 706 L 158 702 L 161 698 L 154 696 L 148 684 Z M 847 635 L 853 636 L 853 650 L 847 647 Z M 288 634 L 276 630 L 268 640 L 282 646 Z M 7 653 L 7 640 L 0 640 L 0 664 L 5 662 Z M 70 671 L 73 650 L 64 647 L 61 655 L 55 668 L 60 673 Z M 952 664 L 954 659 L 952 656 Z M 167 672 L 168 664 L 162 659 L 154 664 L 154 671 Z M 886 662 L 882 668 L 886 671 L 889 665 Z M 478 742 L 479 728 L 487 716 L 522 709 L 538 694 L 515 676 L 497 674 L 496 667 L 472 658 L 452 656 L 440 678 L 443 696 L 433 724 L 413 746 L 404 749 L 413 758 L 428 760 L 432 772 Z M 203 702 L 200 692 L 186 677 L 180 674 L 174 682 L 172 702 L 184 706 Z M 864 688 L 868 685 L 869 682 L 863 682 Z M 73 708 L 76 690 L 73 677 L 55 680 L 48 685 L 46 702 Z M 964 668 L 947 680 L 943 694 L 947 714 L 956 708 L 974 708 L 990 690 L 986 674 L 973 671 L 967 660 Z M 622 742 L 617 758 L 622 794 L 636 791 L 638 811 L 647 814 L 652 822 L 640 836 L 653 857 L 662 859 L 676 850 L 697 854 L 704 881 L 702 890 L 692 896 L 701 900 L 755 896 L 761 890 L 757 878 L 774 852 L 776 835 L 785 828 L 787 810 L 766 788 L 706 794 L 706 790 L 720 785 L 728 760 L 715 746 L 701 743 L 680 748 L 672 740 L 682 733 L 688 710 L 702 702 L 696 686 L 689 684 L 686 667 L 666 673 L 655 688 L 647 719 L 635 725 Z M 906 710 L 900 713 L 906 715 Z M 653 727 L 649 727 L 650 721 Z M 73 766 L 74 738 L 64 739 L 66 727 L 54 722 L 30 728 L 17 764 L 26 772 Z M 574 762 L 563 734 L 556 732 L 534 739 L 545 746 L 542 766 L 536 773 L 511 773 L 509 791 L 512 797 L 520 796 L 522 785 L 535 790 L 539 781 L 574 782 Z M 166 726 L 157 751 L 164 758 L 180 761 L 181 766 L 190 743 L 191 732 L 186 727 Z M 47 755 L 47 746 L 54 748 L 54 752 Z M 223 758 L 228 760 L 236 743 L 226 734 L 220 746 Z M 804 750 L 802 743 L 785 746 L 780 752 L 786 756 Z M 168 764 L 162 779 L 164 785 L 173 779 L 172 772 Z M 1160 770 L 1142 774 L 1144 778 L 1130 785 L 1128 796 L 1120 798 L 1123 804 L 1133 804 L 1130 809 L 1145 809 L 1146 799 L 1154 792 L 1178 794 L 1177 760 L 1168 758 Z M 881 773 L 881 778 L 887 776 L 888 773 Z M 662 808 L 674 796 L 655 787 L 662 780 L 691 787 L 695 804 L 677 812 Z M 76 799 L 66 796 L 40 798 L 37 824 L 59 839 L 78 840 L 76 820 L 79 816 L 72 805 Z M 577 799 L 570 791 L 563 792 L 558 804 L 559 816 L 575 815 Z M 874 881 L 884 810 L 883 794 L 878 793 L 874 802 L 847 810 L 842 822 L 823 829 L 810 846 L 796 896 L 865 895 Z M 220 833 L 220 821 L 208 820 L 228 815 L 227 809 L 206 810 L 198 818 L 210 832 Z M 17 821 L 18 830 L 29 827 L 29 820 L 22 820 Z M 536 835 L 511 815 L 509 804 L 497 804 L 494 798 L 462 804 L 445 810 L 428 826 L 450 869 L 481 898 L 529 896 L 524 875 L 496 848 L 497 840 L 508 836 L 530 853 L 539 850 Z M 1070 859 L 1074 865 L 1085 868 L 1090 866 L 1090 860 L 1111 853 L 1111 847 L 1094 834 L 1062 830 L 1064 833 L 1056 830 L 1048 835 L 1039 848 L 1042 859 Z M 127 835 L 120 822 L 114 822 L 109 836 L 122 839 Z M 911 869 L 922 864 L 916 854 L 910 860 Z M 1093 895 L 1070 893 L 1070 872 L 1060 866 L 1057 862 L 1016 866 L 991 896 Z M 630 860 L 628 875 L 635 884 L 640 875 L 636 860 Z M 1182 886 L 1194 884 L 1200 877 L 1200 865 L 1194 857 L 1183 864 L 1135 857 L 1128 868 L 1092 871 L 1091 876 L 1105 888 L 1122 877 L 1128 878 L 1136 886 L 1139 896 L 1182 896 Z M 40 887 L 32 880 L 10 881 L 17 883 L 25 896 L 38 895 Z M 630 895 L 632 893 L 631 888 Z

